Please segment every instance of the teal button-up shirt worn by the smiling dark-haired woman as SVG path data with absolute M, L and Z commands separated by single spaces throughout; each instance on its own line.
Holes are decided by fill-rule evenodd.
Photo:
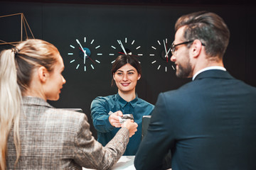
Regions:
M 91 115 L 93 125 L 97 130 L 98 142 L 103 146 L 107 145 L 119 130 L 110 124 L 109 113 L 122 111 L 123 114 L 132 114 L 138 128 L 137 132 L 129 139 L 124 155 L 135 155 L 142 140 L 142 116 L 151 115 L 153 109 L 154 105 L 138 96 L 130 102 L 124 101 L 119 94 L 95 98 L 91 104 Z

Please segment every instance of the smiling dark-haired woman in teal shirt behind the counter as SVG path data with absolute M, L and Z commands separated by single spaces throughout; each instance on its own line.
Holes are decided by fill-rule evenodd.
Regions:
M 151 115 L 154 105 L 139 98 L 135 92 L 137 81 L 142 76 L 142 67 L 136 57 L 120 55 L 111 69 L 118 93 L 99 96 L 91 103 L 92 123 L 97 130 L 97 140 L 107 145 L 121 127 L 118 116 L 132 114 L 138 124 L 137 132 L 130 137 L 124 155 L 135 155 L 142 140 L 142 116 Z

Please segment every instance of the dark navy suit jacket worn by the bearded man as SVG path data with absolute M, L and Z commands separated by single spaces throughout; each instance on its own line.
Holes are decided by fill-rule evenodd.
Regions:
M 256 88 L 208 70 L 159 94 L 134 160 L 137 169 L 256 169 Z

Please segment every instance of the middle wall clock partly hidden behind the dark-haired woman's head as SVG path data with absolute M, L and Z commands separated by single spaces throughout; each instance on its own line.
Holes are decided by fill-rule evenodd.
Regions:
M 142 46 L 137 43 L 136 40 L 124 38 L 123 40 L 117 40 L 113 45 L 110 45 L 109 56 L 112 58 L 111 63 L 115 61 L 119 55 L 133 55 L 138 60 L 143 56 Z

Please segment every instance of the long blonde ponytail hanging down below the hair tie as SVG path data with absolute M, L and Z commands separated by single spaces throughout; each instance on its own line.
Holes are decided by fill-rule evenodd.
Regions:
M 20 156 L 20 139 L 18 134 L 21 114 L 21 90 L 17 84 L 15 51 L 4 50 L 0 54 L 0 169 L 6 169 L 6 149 L 11 128 L 14 128 L 14 145 L 16 163 Z

